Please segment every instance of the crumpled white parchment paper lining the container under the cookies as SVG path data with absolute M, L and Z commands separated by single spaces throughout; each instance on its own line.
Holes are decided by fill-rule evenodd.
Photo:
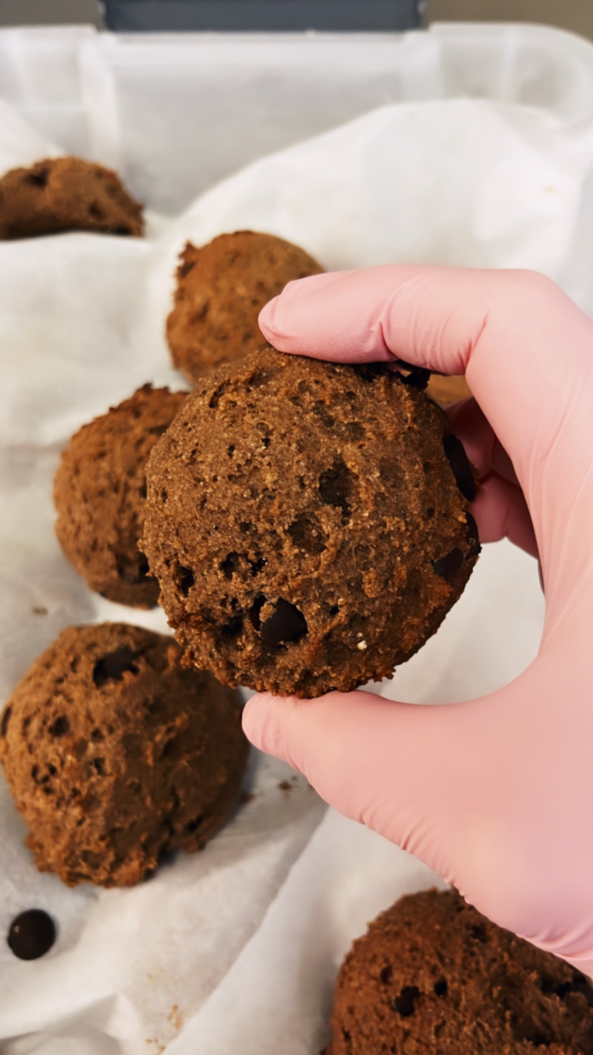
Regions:
M 116 141 L 116 112 L 106 101 L 106 142 Z M 0 172 L 68 147 L 0 104 Z M 183 387 L 164 323 L 186 239 L 253 227 L 300 243 L 326 268 L 533 267 L 587 305 L 591 280 L 575 262 L 592 162 L 591 127 L 568 131 L 543 110 L 478 99 L 388 106 L 256 161 L 178 217 L 151 220 L 148 239 L 0 244 L 1 697 L 68 624 L 166 631 L 162 613 L 87 591 L 55 540 L 51 486 L 79 425 L 146 381 Z M 535 562 L 490 546 L 439 633 L 376 690 L 416 703 L 489 692 L 533 658 L 542 614 Z M 255 755 L 247 787 L 253 799 L 203 852 L 134 889 L 101 891 L 36 871 L 0 780 L 2 1055 L 319 1051 L 352 937 L 435 877 L 325 812 L 287 767 Z M 59 937 L 46 957 L 22 963 L 2 935 L 27 907 L 46 908 Z

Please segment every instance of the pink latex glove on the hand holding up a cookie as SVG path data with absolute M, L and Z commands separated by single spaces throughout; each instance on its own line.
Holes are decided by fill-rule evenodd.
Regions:
M 248 737 L 593 975 L 593 323 L 541 275 L 398 266 L 291 283 L 260 324 L 287 352 L 466 372 L 475 401 L 453 419 L 483 480 L 481 539 L 539 554 L 547 608 L 536 660 L 490 696 L 265 693 Z

